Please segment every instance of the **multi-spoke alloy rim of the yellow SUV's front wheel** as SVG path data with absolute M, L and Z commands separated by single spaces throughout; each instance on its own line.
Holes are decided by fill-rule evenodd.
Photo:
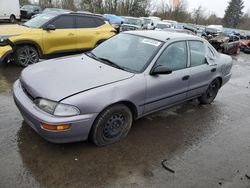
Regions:
M 28 66 L 29 64 L 34 64 L 38 61 L 37 53 L 33 49 L 25 49 L 21 52 L 19 60 L 22 65 Z

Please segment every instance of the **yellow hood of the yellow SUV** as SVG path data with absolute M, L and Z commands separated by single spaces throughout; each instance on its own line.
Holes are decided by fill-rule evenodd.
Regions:
M 1 35 L 20 35 L 30 32 L 32 29 L 21 25 L 3 25 L 0 29 Z

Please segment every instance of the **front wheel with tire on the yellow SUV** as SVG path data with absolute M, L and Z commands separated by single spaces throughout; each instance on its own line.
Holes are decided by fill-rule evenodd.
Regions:
M 39 54 L 33 46 L 21 46 L 16 49 L 15 62 L 18 65 L 27 67 L 28 65 L 37 63 Z

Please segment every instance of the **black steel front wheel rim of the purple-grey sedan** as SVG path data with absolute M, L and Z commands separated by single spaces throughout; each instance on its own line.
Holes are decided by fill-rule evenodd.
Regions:
M 125 127 L 125 117 L 121 114 L 115 114 L 106 122 L 103 135 L 105 138 L 112 139 L 122 134 Z

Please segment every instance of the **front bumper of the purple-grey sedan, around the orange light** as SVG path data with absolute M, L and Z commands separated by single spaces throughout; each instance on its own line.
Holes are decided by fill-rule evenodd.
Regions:
M 84 114 L 74 117 L 55 117 L 38 109 L 24 93 L 19 80 L 13 86 L 15 103 L 24 121 L 45 140 L 53 143 L 69 143 L 86 140 L 91 126 L 98 114 Z M 50 125 L 70 124 L 70 129 L 50 131 L 41 127 L 41 123 Z

